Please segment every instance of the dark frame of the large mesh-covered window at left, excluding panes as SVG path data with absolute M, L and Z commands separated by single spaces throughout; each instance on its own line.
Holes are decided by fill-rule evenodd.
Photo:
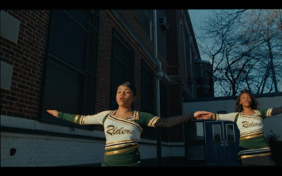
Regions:
M 71 11 L 71 10 L 68 10 Z M 73 20 L 73 24 L 77 25 L 78 27 L 80 23 L 76 21 L 72 15 L 68 13 L 68 11 L 61 11 L 63 12 L 63 15 L 66 15 L 68 17 L 67 20 Z M 49 115 L 46 112 L 46 108 L 48 106 L 48 103 L 45 102 L 47 96 L 47 79 L 49 77 L 49 72 L 51 68 L 50 64 L 57 64 L 61 66 L 62 68 L 66 68 L 69 72 L 78 74 L 83 79 L 83 84 L 81 85 L 82 91 L 79 93 L 82 96 L 82 105 L 78 108 L 77 113 L 79 114 L 93 114 L 95 113 L 95 99 L 96 99 L 96 82 L 97 82 L 97 51 L 98 51 L 98 42 L 99 42 L 99 12 L 98 11 L 92 11 L 92 10 L 80 10 L 80 11 L 71 11 L 73 14 L 77 15 L 80 20 L 83 20 L 85 24 L 87 24 L 87 28 L 85 29 L 87 34 L 85 45 L 87 46 L 87 49 L 85 49 L 85 66 L 84 68 L 81 68 L 71 61 L 68 61 L 68 58 L 64 58 L 63 56 L 59 56 L 59 54 L 56 54 L 56 52 L 51 51 L 51 37 L 52 34 L 54 34 L 53 30 L 57 30 L 59 26 L 54 26 L 54 20 L 56 18 L 54 17 L 54 13 L 56 13 L 56 10 L 52 10 L 50 13 L 50 22 L 49 22 L 49 31 L 48 31 L 48 37 L 47 37 L 47 48 L 45 53 L 45 62 L 44 62 L 44 77 L 42 77 L 42 94 L 41 94 L 41 100 L 40 100 L 40 109 L 39 109 L 39 121 L 44 123 L 50 123 L 55 125 L 61 125 L 61 126 L 68 126 L 68 127 L 78 127 L 82 129 L 87 130 L 95 130 L 95 125 L 76 125 L 73 122 L 67 122 L 66 120 L 62 120 L 59 118 L 53 118 L 51 115 Z M 88 19 L 85 19 L 81 13 L 87 13 L 89 16 Z M 75 27 L 73 25 L 73 27 Z M 55 27 L 55 28 L 54 28 Z M 80 27 L 82 27 L 80 25 Z M 55 83 L 56 84 L 56 83 Z M 59 86 L 59 85 L 57 85 Z M 50 86 L 51 87 L 51 86 Z M 54 88 L 55 89 L 55 88 Z M 55 90 L 56 91 L 56 90 Z M 90 94 L 88 94 L 90 92 Z M 87 105 L 87 106 L 85 106 Z M 54 107 L 56 108 L 56 107 Z M 57 109 L 60 111 L 60 109 Z M 65 112 L 68 113 L 68 112 Z

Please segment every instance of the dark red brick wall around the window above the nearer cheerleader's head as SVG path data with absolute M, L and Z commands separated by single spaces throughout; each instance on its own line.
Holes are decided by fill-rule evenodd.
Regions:
M 137 23 L 134 15 L 130 11 L 117 11 L 118 15 L 123 18 L 126 25 L 130 27 L 135 37 L 142 41 L 142 44 L 153 54 L 152 41 L 149 37 L 144 37 L 145 32 Z M 154 70 L 149 58 L 140 51 L 140 46 L 137 46 L 136 41 L 125 30 L 122 24 L 114 16 L 111 11 L 100 11 L 100 26 L 99 26 L 99 51 L 97 62 L 97 96 L 96 96 L 96 111 L 104 111 L 110 106 L 110 90 L 111 90 L 111 49 L 113 30 L 115 30 L 124 42 L 127 43 L 134 51 L 135 57 L 135 87 L 137 89 L 137 99 L 135 101 L 135 108 L 141 108 L 141 62 L 145 61 L 147 65 Z

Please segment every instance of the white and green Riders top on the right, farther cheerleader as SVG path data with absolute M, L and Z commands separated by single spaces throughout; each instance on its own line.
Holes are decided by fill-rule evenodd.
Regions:
M 253 110 L 252 115 L 240 113 L 214 114 L 212 120 L 235 122 L 240 131 L 238 158 L 271 155 L 269 144 L 264 139 L 264 118 L 270 117 L 272 108 Z

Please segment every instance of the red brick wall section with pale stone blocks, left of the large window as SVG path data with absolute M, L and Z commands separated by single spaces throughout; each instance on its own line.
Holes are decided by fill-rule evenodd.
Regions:
M 49 11 L 7 11 L 20 20 L 18 44 L 1 40 L 1 61 L 13 65 L 11 89 L 1 89 L 1 115 L 37 119 Z

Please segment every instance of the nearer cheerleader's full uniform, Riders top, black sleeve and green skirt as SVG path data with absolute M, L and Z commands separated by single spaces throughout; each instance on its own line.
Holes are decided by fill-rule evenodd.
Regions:
M 106 137 L 102 166 L 138 166 L 140 153 L 138 142 L 143 127 L 173 127 L 193 120 L 194 113 L 171 118 L 160 118 L 150 113 L 133 111 L 133 116 L 118 118 L 115 111 L 103 111 L 95 115 L 75 115 L 59 112 L 59 118 L 79 125 L 103 125 Z

